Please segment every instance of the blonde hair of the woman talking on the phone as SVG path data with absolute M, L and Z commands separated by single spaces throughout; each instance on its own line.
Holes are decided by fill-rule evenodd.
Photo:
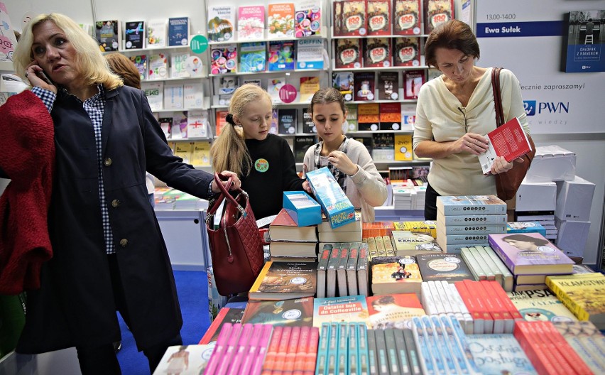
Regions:
M 65 37 L 77 51 L 76 68 L 84 77 L 85 85 L 101 84 L 105 89 L 115 89 L 124 85 L 120 77 L 109 69 L 97 41 L 85 33 L 71 18 L 60 13 L 40 14 L 23 28 L 13 59 L 18 75 L 24 78 L 26 67 L 34 60 L 31 51 L 33 29 L 48 21 L 55 23 L 65 33 Z

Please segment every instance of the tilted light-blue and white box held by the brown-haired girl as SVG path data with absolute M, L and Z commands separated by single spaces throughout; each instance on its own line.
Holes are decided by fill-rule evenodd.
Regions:
M 332 229 L 355 221 L 355 209 L 327 167 L 307 172 L 307 180 Z

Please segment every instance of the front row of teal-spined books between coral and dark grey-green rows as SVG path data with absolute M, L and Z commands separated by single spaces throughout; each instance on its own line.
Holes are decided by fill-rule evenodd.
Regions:
M 369 374 L 368 332 L 364 323 L 323 323 L 315 374 Z

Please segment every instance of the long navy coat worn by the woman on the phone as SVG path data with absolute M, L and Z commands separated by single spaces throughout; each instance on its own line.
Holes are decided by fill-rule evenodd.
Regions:
M 102 126 L 104 191 L 121 280 L 139 350 L 171 339 L 182 326 L 173 271 L 148 202 L 145 172 L 197 197 L 212 175 L 173 156 L 145 94 L 106 92 Z M 104 244 L 97 149 L 92 121 L 73 97 L 59 93 L 56 173 L 49 212 L 53 259 L 41 288 L 28 292 L 26 326 L 17 352 L 102 345 L 120 338 Z

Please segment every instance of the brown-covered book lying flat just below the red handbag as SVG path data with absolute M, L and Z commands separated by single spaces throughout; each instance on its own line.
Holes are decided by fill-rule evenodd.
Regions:
M 316 262 L 271 262 L 263 278 L 259 276 L 250 289 L 249 298 L 285 300 L 312 297 L 317 287 L 316 271 Z

